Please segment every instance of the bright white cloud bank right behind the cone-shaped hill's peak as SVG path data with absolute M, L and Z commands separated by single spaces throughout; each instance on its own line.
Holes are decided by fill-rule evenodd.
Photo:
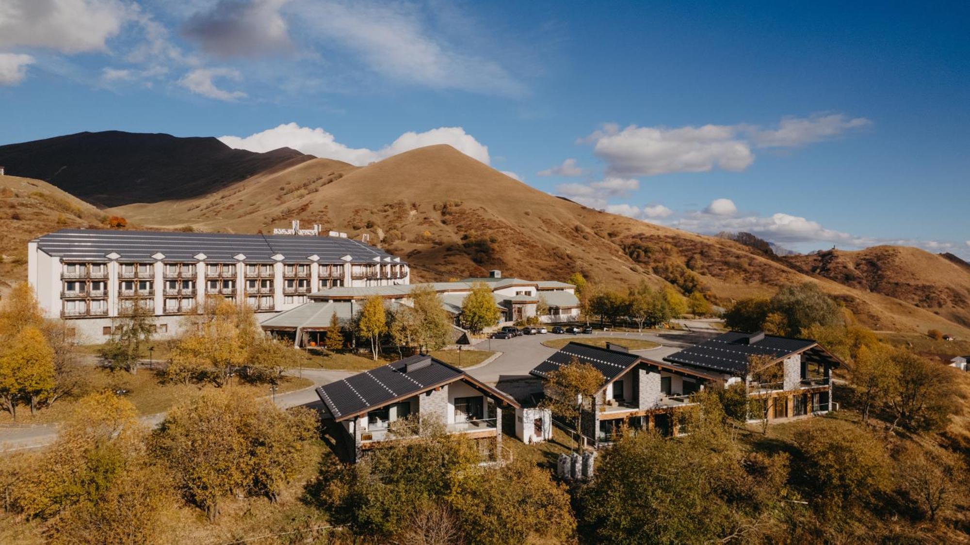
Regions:
M 333 134 L 322 128 L 302 127 L 296 123 L 285 123 L 247 137 L 223 136 L 219 137 L 219 140 L 231 147 L 250 151 L 270 151 L 277 147 L 292 147 L 310 155 L 337 159 L 354 165 L 367 165 L 426 145 L 449 144 L 486 165 L 490 162 L 488 146 L 479 143 L 462 127 L 438 127 L 423 133 L 406 132 L 393 143 L 376 150 L 340 144 Z

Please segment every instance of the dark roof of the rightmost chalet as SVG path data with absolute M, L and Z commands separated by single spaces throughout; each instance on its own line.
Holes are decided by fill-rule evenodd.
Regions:
M 663 360 L 674 364 L 745 374 L 748 371 L 751 356 L 767 355 L 780 360 L 816 344 L 814 340 L 806 338 L 763 336 L 759 339 L 758 337 L 760 334 L 728 332 L 670 354 Z M 750 344 L 749 340 L 752 341 Z

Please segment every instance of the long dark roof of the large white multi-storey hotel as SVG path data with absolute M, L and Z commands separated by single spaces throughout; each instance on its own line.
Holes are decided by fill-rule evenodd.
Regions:
M 155 261 L 156 254 L 165 256 L 162 261 L 196 261 L 194 256 L 205 254 L 210 263 L 235 262 L 239 254 L 246 262 L 267 263 L 277 261 L 277 254 L 283 263 L 309 263 L 311 255 L 319 258 L 318 263 L 345 263 L 341 258 L 347 255 L 354 263 L 394 259 L 360 240 L 292 235 L 62 229 L 38 238 L 37 244 L 50 256 L 87 261 L 106 261 L 113 253 L 119 261 Z

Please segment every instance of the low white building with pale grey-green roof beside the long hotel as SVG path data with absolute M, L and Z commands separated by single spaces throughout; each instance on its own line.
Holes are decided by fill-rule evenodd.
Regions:
M 499 324 L 514 323 L 537 317 L 540 322 L 573 322 L 579 319 L 579 300 L 576 299 L 572 284 L 551 280 L 523 280 L 502 278 L 501 272 L 493 271 L 487 277 L 465 278 L 457 282 L 431 282 L 430 286 L 441 296 L 444 309 L 454 319 L 455 336 L 464 335 L 457 328 L 462 313 L 462 303 L 471 293 L 472 286 L 483 282 L 492 288 L 496 306 L 501 310 Z M 276 337 L 293 339 L 297 346 L 318 346 L 321 344 L 330 321 L 337 314 L 340 324 L 347 324 L 373 296 L 383 298 L 387 305 L 412 305 L 411 290 L 418 284 L 380 285 L 366 287 L 336 287 L 308 295 L 306 305 L 282 312 L 264 321 L 264 330 Z M 548 307 L 548 312 L 538 315 L 539 302 Z

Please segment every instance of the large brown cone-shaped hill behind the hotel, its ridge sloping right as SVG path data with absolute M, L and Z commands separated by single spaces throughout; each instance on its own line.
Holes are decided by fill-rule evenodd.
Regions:
M 112 208 L 144 225 L 255 232 L 290 219 L 346 231 L 404 256 L 415 279 L 501 269 L 566 279 L 580 271 L 624 289 L 640 279 L 684 284 L 696 274 L 722 304 L 817 281 L 876 329 L 936 327 L 970 337 L 926 309 L 808 276 L 731 240 L 704 237 L 585 208 L 504 176 L 447 145 L 356 168 L 315 159 L 252 176 L 207 196 Z

